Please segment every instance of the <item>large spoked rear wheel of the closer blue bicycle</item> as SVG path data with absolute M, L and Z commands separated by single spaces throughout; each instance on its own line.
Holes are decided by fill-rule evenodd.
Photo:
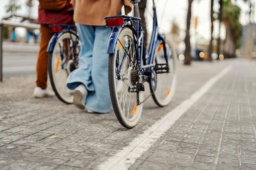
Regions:
M 135 48 L 132 30 L 124 27 L 119 34 L 115 52 L 109 55 L 108 60 L 112 106 L 118 121 L 126 128 L 138 123 L 143 108 L 143 104 L 138 104 L 143 101 L 144 93 L 137 89 Z

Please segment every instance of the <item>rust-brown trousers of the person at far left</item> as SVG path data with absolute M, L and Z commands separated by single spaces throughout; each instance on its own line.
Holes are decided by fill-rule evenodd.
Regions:
M 71 21 L 67 24 L 75 24 Z M 54 33 L 51 33 L 49 25 L 40 24 L 41 40 L 40 50 L 38 53 L 37 64 L 36 64 L 36 86 L 42 89 L 47 87 L 47 71 L 48 71 L 48 56 L 46 52 L 49 41 L 51 40 Z

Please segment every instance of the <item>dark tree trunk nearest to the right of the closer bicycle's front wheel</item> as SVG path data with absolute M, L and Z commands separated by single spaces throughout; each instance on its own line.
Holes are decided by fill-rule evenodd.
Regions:
M 192 6 L 193 0 L 189 0 L 189 8 L 188 8 L 188 13 L 186 17 L 186 37 L 185 37 L 185 46 L 186 49 L 184 51 L 184 64 L 185 65 L 190 65 L 191 64 L 191 56 L 190 56 L 190 51 L 191 51 L 191 45 L 190 45 L 190 22 L 191 22 L 191 6 Z

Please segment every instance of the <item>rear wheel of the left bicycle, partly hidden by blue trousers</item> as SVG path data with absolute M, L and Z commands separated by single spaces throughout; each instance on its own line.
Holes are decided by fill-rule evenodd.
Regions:
M 72 38 L 73 41 L 70 41 Z M 72 43 L 72 44 L 70 44 Z M 67 52 L 70 51 L 71 47 L 74 47 L 74 50 L 70 57 L 65 62 L 67 57 Z M 63 51 L 63 60 L 61 59 L 61 50 Z M 54 48 L 49 52 L 48 57 L 48 73 L 49 79 L 52 85 L 52 89 L 58 99 L 66 104 L 73 103 L 73 91 L 68 89 L 66 86 L 67 76 L 78 66 L 78 54 L 80 51 L 79 47 L 79 37 L 75 33 L 65 32 L 58 37 Z M 76 57 L 74 58 L 74 53 Z M 65 62 L 64 67 L 61 64 Z

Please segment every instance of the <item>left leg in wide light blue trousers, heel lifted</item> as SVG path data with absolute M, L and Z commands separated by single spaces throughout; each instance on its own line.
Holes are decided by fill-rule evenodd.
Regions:
M 79 52 L 79 67 L 67 77 L 67 87 L 74 90 L 81 83 L 88 91 L 94 91 L 92 84 L 92 49 L 94 44 L 94 26 L 76 24 L 76 29 L 81 41 Z

